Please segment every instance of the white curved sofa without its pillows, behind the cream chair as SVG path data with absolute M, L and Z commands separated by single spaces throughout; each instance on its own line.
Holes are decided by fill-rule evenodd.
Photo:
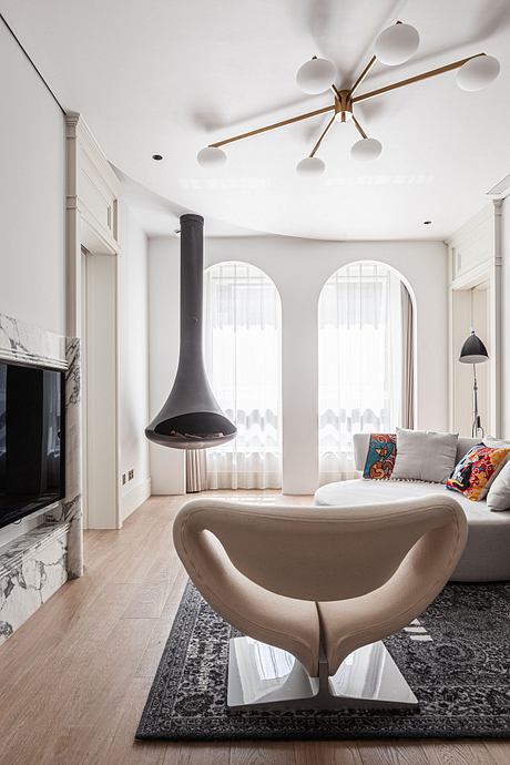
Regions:
M 354 436 L 356 469 L 363 471 L 370 436 Z M 479 440 L 459 438 L 457 461 Z M 473 502 L 462 494 L 449 491 L 442 483 L 422 481 L 370 480 L 365 478 L 339 481 L 320 487 L 315 503 L 334 507 L 360 507 L 375 502 L 426 497 L 448 492 L 462 507 L 469 526 L 466 550 L 451 580 L 458 582 L 490 582 L 510 580 L 510 510 L 492 512 L 487 502 Z

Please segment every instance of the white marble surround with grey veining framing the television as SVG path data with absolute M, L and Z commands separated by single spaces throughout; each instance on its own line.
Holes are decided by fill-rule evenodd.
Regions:
M 65 498 L 45 508 L 33 528 L 20 524 L 18 536 L 16 524 L 0 529 L 2 643 L 68 579 L 83 573 L 80 340 L 0 314 L 0 360 L 65 371 Z

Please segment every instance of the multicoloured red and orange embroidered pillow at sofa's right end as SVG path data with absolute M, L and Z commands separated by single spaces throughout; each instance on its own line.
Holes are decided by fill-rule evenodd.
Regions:
M 447 480 L 447 489 L 459 491 L 475 502 L 483 499 L 509 455 L 509 448 L 477 443 L 457 463 Z

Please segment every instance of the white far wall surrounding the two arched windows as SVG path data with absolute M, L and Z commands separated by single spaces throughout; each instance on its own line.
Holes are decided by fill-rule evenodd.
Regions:
M 283 435 L 285 493 L 318 486 L 318 297 L 337 268 L 359 259 L 395 267 L 416 296 L 417 427 L 447 429 L 447 251 L 438 242 L 317 242 L 292 237 L 211 238 L 205 267 L 243 261 L 262 268 L 282 297 Z M 176 238 L 150 245 L 150 379 L 155 414 L 175 375 L 178 344 Z M 156 453 L 156 449 L 159 452 Z M 155 493 L 184 491 L 183 456 L 151 449 Z

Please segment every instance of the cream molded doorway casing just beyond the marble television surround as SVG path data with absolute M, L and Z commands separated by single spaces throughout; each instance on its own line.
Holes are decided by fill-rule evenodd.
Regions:
M 93 489 L 96 493 L 91 507 L 100 508 L 96 513 L 99 517 L 94 518 L 96 528 L 116 529 L 122 524 L 119 497 L 119 333 L 116 323 L 118 256 L 121 251 L 118 218 L 121 183 L 83 118 L 76 113 L 69 113 L 64 119 L 67 327 L 69 335 L 85 337 L 83 375 L 86 382 L 85 397 L 82 401 L 82 418 L 86 427 L 85 442 L 81 445 L 85 520 L 89 516 L 86 498 L 89 490 Z M 86 255 L 82 254 L 83 251 Z M 86 258 L 85 269 L 82 268 L 83 257 Z M 108 262 L 106 258 L 109 258 Z M 106 274 L 104 274 L 105 271 Z M 103 278 L 105 275 L 108 283 Z M 85 283 L 92 285 L 89 290 Z M 82 323 L 89 324 L 89 319 L 93 320 L 94 310 L 90 305 L 83 305 L 83 298 L 86 295 L 93 298 L 94 287 L 98 286 L 102 287 L 101 307 L 113 319 L 109 319 L 104 332 L 96 332 L 98 327 L 93 325 L 94 336 L 91 343 L 88 343 Z M 104 359 L 109 359 L 110 363 L 105 364 Z M 96 388 L 111 396 L 111 406 L 108 407 L 106 412 L 102 414 L 101 421 L 99 421 L 101 415 L 98 407 L 89 407 L 86 401 L 91 380 Z M 101 438 L 104 430 L 113 434 L 108 443 Z M 91 448 L 88 445 L 91 445 Z M 89 463 L 91 475 L 93 473 L 91 481 L 89 481 Z M 95 501 L 98 496 L 104 499 L 101 506 Z

